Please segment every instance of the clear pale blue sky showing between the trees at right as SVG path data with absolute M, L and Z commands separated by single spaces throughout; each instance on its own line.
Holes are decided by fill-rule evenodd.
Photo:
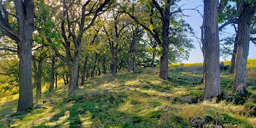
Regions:
M 202 5 L 202 6 L 198 6 L 197 9 L 203 14 L 203 2 L 202 0 L 181 0 L 179 3 L 179 5 L 184 4 L 181 9 L 184 8 L 195 8 L 198 5 Z M 194 32 L 196 34 L 197 37 L 201 36 L 201 30 L 200 30 L 200 26 L 202 25 L 202 17 L 201 15 L 196 11 L 196 10 L 183 10 L 182 11 L 183 14 L 185 15 L 189 15 L 189 16 L 184 16 L 184 20 L 190 24 L 190 26 L 194 29 Z M 231 25 L 226 26 L 225 30 L 227 31 L 227 33 L 225 33 L 226 35 L 230 34 L 234 34 L 234 29 L 233 27 L 231 27 Z M 200 45 L 199 42 L 197 42 L 196 38 L 191 37 L 191 39 L 193 40 L 192 44 L 194 44 L 195 49 L 192 49 L 190 51 L 190 55 L 188 60 L 184 60 L 183 63 L 196 63 L 196 62 L 203 62 L 203 56 L 202 56 L 202 52 L 200 50 Z M 256 58 L 256 46 L 250 42 L 249 44 L 249 55 L 248 58 Z M 220 56 L 220 61 L 224 61 L 224 60 L 231 60 L 231 55 L 228 56 L 227 58 L 223 58 Z

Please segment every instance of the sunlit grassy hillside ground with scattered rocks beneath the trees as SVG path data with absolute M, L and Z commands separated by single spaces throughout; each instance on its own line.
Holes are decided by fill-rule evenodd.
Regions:
M 233 74 L 222 70 L 222 95 L 203 101 L 200 64 L 171 66 L 166 80 L 158 71 L 86 79 L 70 98 L 59 83 L 34 98 L 42 106 L 26 112 L 16 112 L 17 94 L 2 97 L 0 127 L 256 127 L 256 67 L 247 68 L 248 95 L 232 93 Z

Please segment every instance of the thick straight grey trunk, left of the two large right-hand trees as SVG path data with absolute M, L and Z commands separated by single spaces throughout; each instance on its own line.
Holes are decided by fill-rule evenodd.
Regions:
M 219 78 L 218 0 L 204 0 L 203 93 L 211 98 L 221 93 Z

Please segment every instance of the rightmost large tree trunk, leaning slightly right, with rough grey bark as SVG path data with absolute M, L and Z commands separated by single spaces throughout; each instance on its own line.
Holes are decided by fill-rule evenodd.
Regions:
M 256 12 L 256 7 L 255 6 L 250 7 L 251 4 L 246 3 L 245 0 L 241 1 L 241 11 L 239 15 L 238 32 L 237 32 L 238 40 L 237 40 L 237 51 L 236 51 L 236 57 L 235 57 L 233 92 L 236 91 L 236 88 L 239 85 L 243 84 L 245 86 L 246 64 L 247 64 L 247 56 L 248 56 L 248 50 L 249 50 L 250 24 L 251 24 L 252 17 Z M 256 2 L 254 2 L 254 5 L 255 4 Z M 245 93 L 245 91 L 240 93 Z

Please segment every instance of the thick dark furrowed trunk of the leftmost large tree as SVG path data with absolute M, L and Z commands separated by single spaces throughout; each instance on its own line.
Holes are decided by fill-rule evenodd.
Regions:
M 33 106 L 32 32 L 34 23 L 33 0 L 14 0 L 18 23 L 19 97 L 17 111 Z

